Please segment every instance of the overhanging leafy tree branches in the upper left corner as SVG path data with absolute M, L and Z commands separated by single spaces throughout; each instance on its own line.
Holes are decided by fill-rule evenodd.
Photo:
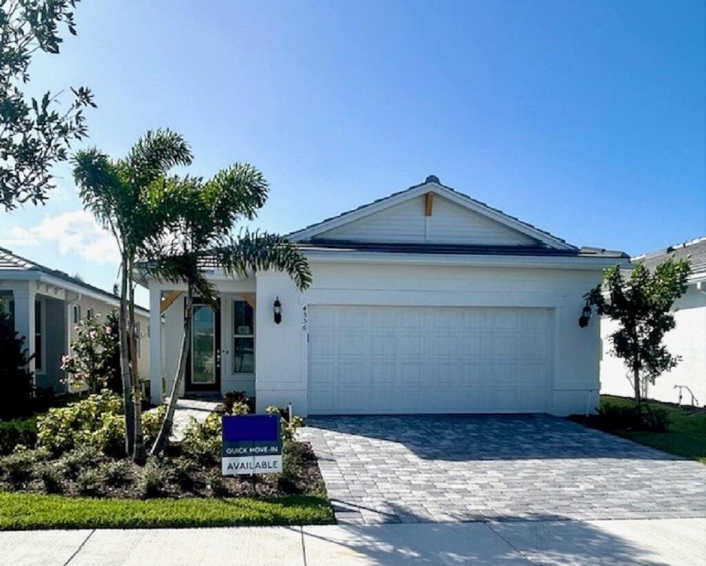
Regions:
M 71 88 L 73 102 L 64 112 L 56 110 L 58 95 L 27 100 L 21 90 L 30 79 L 32 54 L 59 53 L 59 25 L 76 35 L 77 1 L 0 1 L 0 204 L 6 211 L 43 203 L 54 188 L 52 165 L 66 160 L 71 142 L 88 134 L 83 110 L 95 107 L 88 88 Z

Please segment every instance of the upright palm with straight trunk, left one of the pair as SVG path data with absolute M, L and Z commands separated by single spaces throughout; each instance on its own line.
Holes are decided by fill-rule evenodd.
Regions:
M 167 173 L 191 163 L 184 138 L 169 130 L 148 131 L 127 157 L 111 160 L 97 149 L 79 151 L 73 176 L 85 208 L 114 236 L 120 264 L 120 370 L 125 405 L 125 450 L 137 462 L 146 458 L 142 435 L 141 389 L 136 376 L 133 267 L 136 257 L 158 240 L 167 220 L 162 195 L 174 182 Z

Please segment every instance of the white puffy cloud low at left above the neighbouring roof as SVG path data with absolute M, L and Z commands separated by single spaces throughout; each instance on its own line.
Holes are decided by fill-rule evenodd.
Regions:
M 32 228 L 14 227 L 7 235 L 0 234 L 0 245 L 5 247 L 37 246 L 42 242 L 56 242 L 61 254 L 77 254 L 99 264 L 120 262 L 118 247 L 88 211 L 78 210 L 47 216 Z

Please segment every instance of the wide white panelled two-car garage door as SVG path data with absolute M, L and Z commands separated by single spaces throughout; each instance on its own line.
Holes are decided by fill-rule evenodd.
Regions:
M 309 413 L 546 410 L 550 309 L 309 309 Z

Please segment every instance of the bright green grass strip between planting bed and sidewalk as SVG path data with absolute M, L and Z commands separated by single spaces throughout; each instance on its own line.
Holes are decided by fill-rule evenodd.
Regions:
M 0 492 L 0 530 L 333 523 L 325 497 L 120 500 Z

